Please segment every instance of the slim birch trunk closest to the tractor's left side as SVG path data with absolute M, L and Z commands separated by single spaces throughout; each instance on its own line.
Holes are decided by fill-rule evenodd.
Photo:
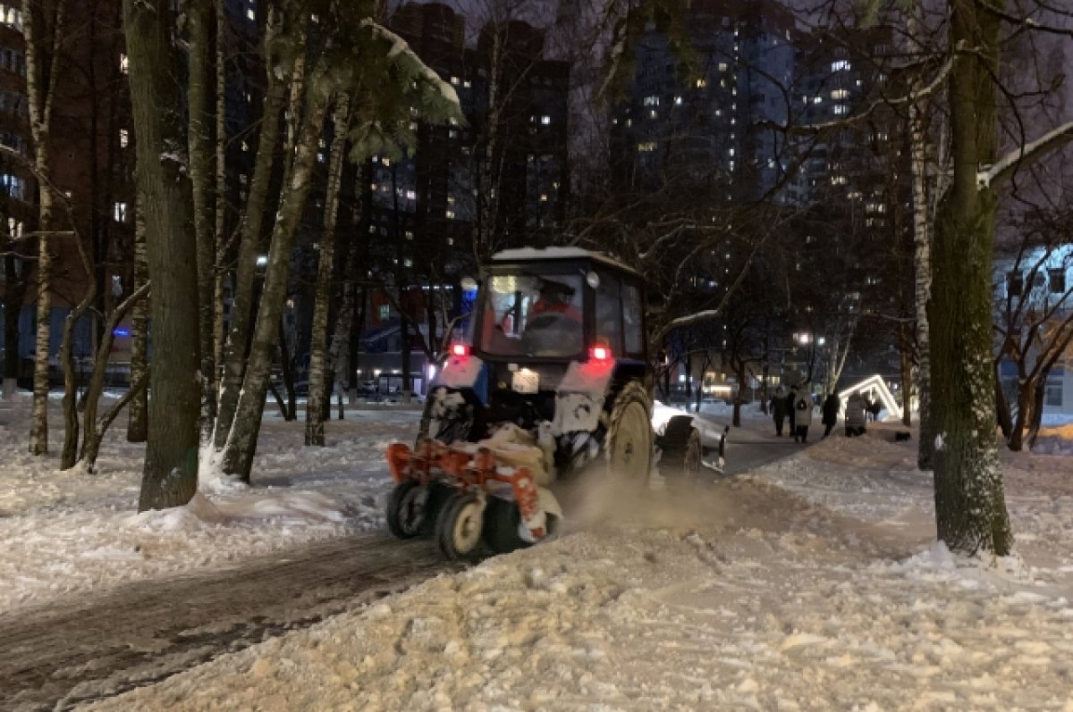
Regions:
M 339 214 L 339 191 L 342 184 L 342 162 L 350 127 L 350 98 L 343 93 L 336 102 L 335 133 L 328 163 L 327 194 L 324 201 L 324 233 L 321 236 L 317 263 L 317 296 L 313 305 L 313 328 L 309 346 L 309 400 L 306 404 L 306 445 L 324 445 L 324 399 L 330 396 L 324 380 L 327 348 L 328 300 L 335 271 L 336 220 Z

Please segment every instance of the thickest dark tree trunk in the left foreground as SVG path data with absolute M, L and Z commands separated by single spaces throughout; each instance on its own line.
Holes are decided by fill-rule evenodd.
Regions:
M 138 510 L 186 504 L 197 487 L 197 255 L 186 229 L 191 194 L 175 149 L 182 146 L 174 81 L 174 25 L 163 4 L 123 0 L 137 189 L 152 280 L 152 398 Z

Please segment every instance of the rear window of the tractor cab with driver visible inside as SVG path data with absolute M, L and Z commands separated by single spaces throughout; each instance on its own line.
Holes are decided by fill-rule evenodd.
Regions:
M 580 275 L 496 275 L 485 295 L 483 352 L 534 357 L 582 352 Z

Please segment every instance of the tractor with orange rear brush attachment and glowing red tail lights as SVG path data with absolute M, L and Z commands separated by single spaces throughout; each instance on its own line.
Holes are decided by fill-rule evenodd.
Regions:
M 395 536 L 432 536 L 447 559 L 474 560 L 552 533 L 555 486 L 577 473 L 642 489 L 653 458 L 675 484 L 721 468 L 725 431 L 712 464 L 691 416 L 652 428 L 635 270 L 576 248 L 508 250 L 468 286 L 470 338 L 432 381 L 415 446 L 387 449 Z

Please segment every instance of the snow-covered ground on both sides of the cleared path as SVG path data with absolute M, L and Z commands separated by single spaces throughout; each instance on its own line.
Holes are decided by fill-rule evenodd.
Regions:
M 4 436 L 0 603 L 374 523 L 382 445 L 415 414 L 359 417 L 323 451 L 267 424 L 254 481 L 271 489 L 142 516 L 136 448 L 114 442 L 87 479 Z M 1003 455 L 1018 555 L 981 566 L 934 544 L 930 475 L 893 428 L 687 496 L 593 491 L 556 542 L 94 709 L 1073 712 L 1070 460 Z

